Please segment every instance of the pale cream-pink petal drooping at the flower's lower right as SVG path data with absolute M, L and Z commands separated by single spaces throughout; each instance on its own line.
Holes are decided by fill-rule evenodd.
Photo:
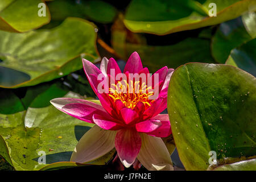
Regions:
M 173 171 L 171 156 L 163 140 L 141 133 L 142 146 L 137 156 L 139 162 L 149 171 Z

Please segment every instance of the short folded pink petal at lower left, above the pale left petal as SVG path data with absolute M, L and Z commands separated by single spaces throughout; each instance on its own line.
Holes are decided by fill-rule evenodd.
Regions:
M 122 128 L 118 121 L 106 115 L 93 114 L 93 121 L 104 130 L 119 130 Z

